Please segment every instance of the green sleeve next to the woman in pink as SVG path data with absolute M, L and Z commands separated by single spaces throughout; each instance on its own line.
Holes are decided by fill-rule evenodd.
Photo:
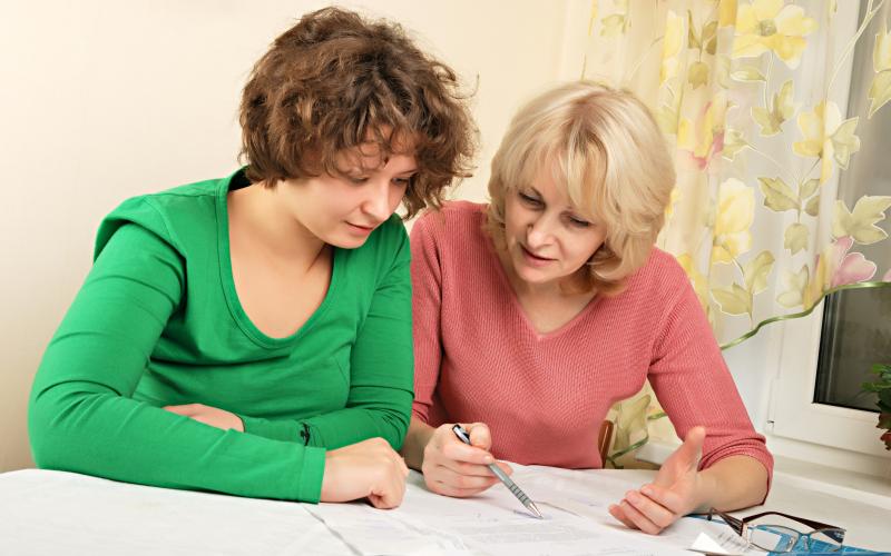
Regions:
M 386 230 L 393 249 L 382 250 L 389 268 L 373 292 L 350 356 L 350 389 L 343 409 L 302 420 L 244 418 L 245 429 L 278 439 L 301 439 L 305 423 L 310 446 L 329 449 L 381 437 L 394 449 L 409 428 L 414 366 L 411 339 L 409 241 L 402 222 Z M 346 369 L 344 369 L 346 370 Z

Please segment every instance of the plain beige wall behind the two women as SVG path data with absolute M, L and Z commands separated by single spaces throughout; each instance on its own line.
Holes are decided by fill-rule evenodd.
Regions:
M 344 3 L 401 21 L 474 98 L 487 161 L 511 112 L 580 71 L 585 0 Z M 0 471 L 32 465 L 27 397 L 90 266 L 101 217 L 125 198 L 236 165 L 236 107 L 253 61 L 311 1 L 0 0 Z M 567 32 L 568 31 L 568 32 Z

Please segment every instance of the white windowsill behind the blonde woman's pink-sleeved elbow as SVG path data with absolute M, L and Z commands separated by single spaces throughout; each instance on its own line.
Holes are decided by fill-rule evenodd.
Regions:
M 637 458 L 662 464 L 677 446 L 650 440 L 640 448 Z M 891 509 L 891 480 L 889 478 L 784 456 L 774 456 L 773 476 L 774 483 Z

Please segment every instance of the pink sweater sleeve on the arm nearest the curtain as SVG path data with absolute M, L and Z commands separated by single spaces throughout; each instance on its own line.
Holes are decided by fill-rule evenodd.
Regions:
M 689 281 L 676 264 L 667 274 L 675 276 L 666 281 L 678 287 L 656 328 L 649 379 L 659 403 L 682 438 L 694 426 L 706 428 L 699 468 L 745 455 L 761 461 L 770 476 L 773 458 L 752 427 Z

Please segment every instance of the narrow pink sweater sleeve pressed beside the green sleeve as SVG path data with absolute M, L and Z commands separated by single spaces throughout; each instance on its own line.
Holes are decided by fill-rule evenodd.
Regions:
M 429 218 L 420 218 L 411 230 L 412 306 L 414 309 L 414 403 L 412 414 L 430 423 L 433 394 L 442 363 L 440 315 L 442 277 L 437 244 Z

